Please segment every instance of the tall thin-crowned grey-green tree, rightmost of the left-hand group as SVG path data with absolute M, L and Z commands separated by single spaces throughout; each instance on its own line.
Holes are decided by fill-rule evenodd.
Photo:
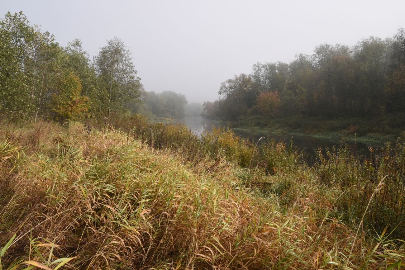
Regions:
M 131 51 L 119 38 L 108 40 L 107 46 L 102 47 L 96 66 L 101 83 L 99 112 L 101 115 L 105 111 L 107 122 L 111 113 L 124 109 L 125 102 L 139 102 L 138 89 L 141 83 L 136 76 Z

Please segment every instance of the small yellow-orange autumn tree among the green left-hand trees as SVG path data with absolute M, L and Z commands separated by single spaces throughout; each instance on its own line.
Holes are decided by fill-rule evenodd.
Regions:
M 52 95 L 51 109 L 60 123 L 80 119 L 87 112 L 88 98 L 81 96 L 81 83 L 74 74 L 68 73 L 60 79 L 57 93 Z

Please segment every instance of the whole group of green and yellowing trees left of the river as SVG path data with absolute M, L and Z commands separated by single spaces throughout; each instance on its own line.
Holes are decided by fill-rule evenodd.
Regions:
M 131 52 L 113 38 L 90 61 L 79 39 L 62 47 L 25 15 L 0 19 L 0 115 L 61 122 L 93 117 L 107 123 L 141 100 Z

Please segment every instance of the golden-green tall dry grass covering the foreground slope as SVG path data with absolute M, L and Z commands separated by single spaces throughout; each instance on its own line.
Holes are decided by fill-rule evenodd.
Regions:
M 384 234 L 356 237 L 354 224 L 333 215 L 341 189 L 325 190 L 310 171 L 291 179 L 252 168 L 249 185 L 280 190 L 263 196 L 246 187 L 244 168 L 224 158 L 190 162 L 181 151 L 156 150 L 111 129 L 88 134 L 80 123 L 43 122 L 8 127 L 0 138 L 0 246 L 16 234 L 2 269 L 404 264 L 401 243 Z

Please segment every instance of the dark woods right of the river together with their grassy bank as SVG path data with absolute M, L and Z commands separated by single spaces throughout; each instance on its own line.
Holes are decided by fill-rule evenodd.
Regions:
M 404 137 L 405 30 L 354 46 L 322 43 L 289 63 L 257 62 L 223 81 L 202 116 L 235 130 L 364 143 Z

